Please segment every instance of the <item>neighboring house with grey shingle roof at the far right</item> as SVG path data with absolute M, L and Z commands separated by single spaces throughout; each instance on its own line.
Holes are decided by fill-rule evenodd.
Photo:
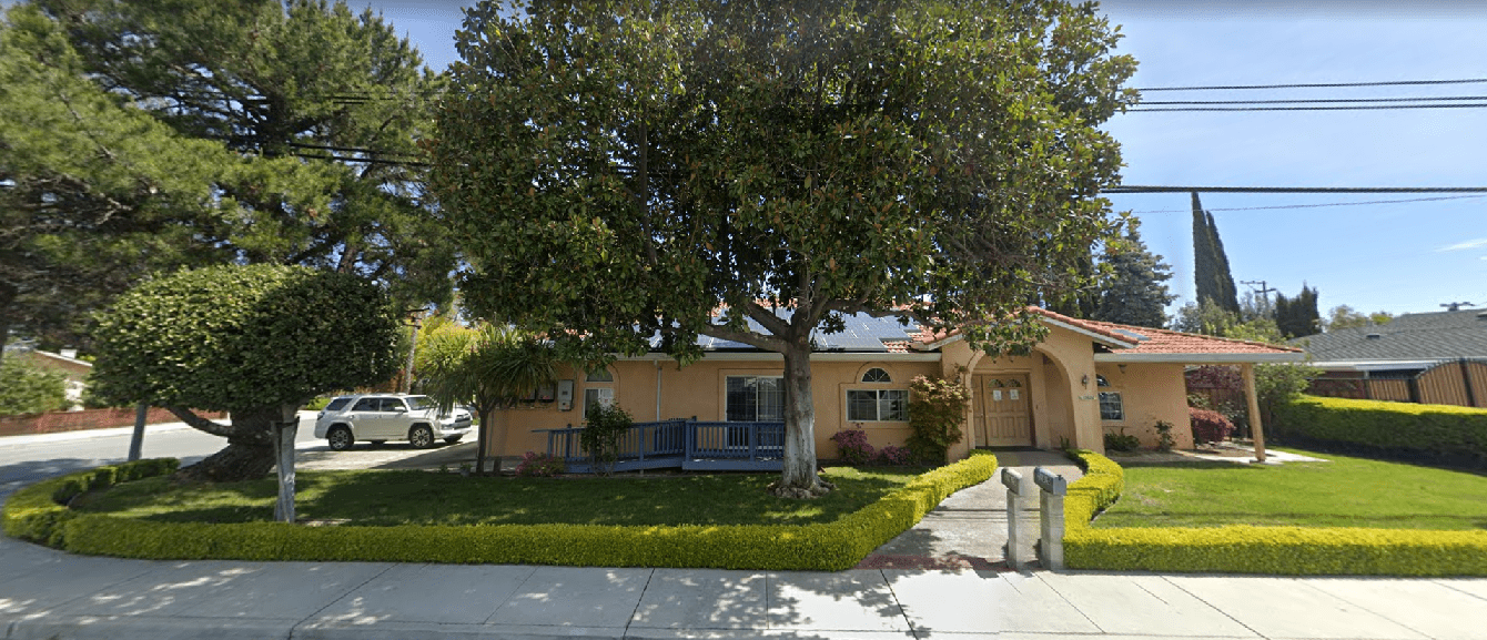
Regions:
M 1407 313 L 1381 325 L 1292 340 L 1338 398 L 1487 407 L 1487 312 Z

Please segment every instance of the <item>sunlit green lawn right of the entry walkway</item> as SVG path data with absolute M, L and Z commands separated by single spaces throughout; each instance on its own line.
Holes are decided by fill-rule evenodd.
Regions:
M 1294 453 L 1331 462 L 1127 468 L 1120 502 L 1093 527 L 1487 529 L 1487 477 Z

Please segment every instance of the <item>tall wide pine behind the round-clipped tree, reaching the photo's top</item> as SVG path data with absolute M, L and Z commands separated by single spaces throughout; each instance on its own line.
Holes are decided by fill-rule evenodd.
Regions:
M 409 309 L 448 294 L 452 248 L 424 200 L 418 150 L 442 79 L 379 16 L 318 0 L 36 0 L 34 7 L 77 52 L 68 82 L 86 77 L 128 114 L 82 113 L 77 120 L 91 125 L 79 125 L 77 137 L 135 126 L 147 135 L 126 137 L 135 153 L 116 162 L 116 172 L 144 174 L 135 190 L 153 196 L 147 187 L 189 187 L 190 205 L 226 209 L 175 215 L 156 224 L 165 233 L 131 236 L 135 246 L 125 249 L 156 264 L 137 258 L 138 267 L 92 269 L 117 282 L 83 281 L 77 288 L 98 295 L 71 295 L 89 303 L 73 304 L 71 316 L 152 267 L 208 261 L 355 273 L 390 285 Z M 49 134 L 42 122 L 28 131 Z M 232 171 L 220 171 L 220 151 L 204 148 L 230 151 Z M 156 180 L 152 168 L 165 175 Z M 141 199 L 131 196 L 119 202 Z M 55 209 L 89 215 L 70 205 Z M 76 254 L 86 260 L 68 255 L 67 264 L 98 261 L 92 251 Z

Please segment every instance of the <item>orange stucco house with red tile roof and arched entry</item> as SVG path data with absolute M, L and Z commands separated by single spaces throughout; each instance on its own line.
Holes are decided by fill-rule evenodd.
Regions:
M 909 382 L 915 376 L 953 379 L 964 371 L 972 389 L 964 441 L 972 447 L 1103 451 L 1103 434 L 1136 435 L 1157 444 L 1158 420 L 1178 426 L 1179 447 L 1191 447 L 1184 367 L 1300 361 L 1300 349 L 1126 327 L 1039 310 L 1048 336 L 1026 355 L 989 356 L 958 331 L 931 336 L 897 319 L 846 318 L 846 331 L 816 336 L 812 356 L 815 438 L 819 457 L 836 457 L 831 435 L 862 428 L 874 447 L 904 445 Z M 677 368 L 662 352 L 620 358 L 608 370 L 575 373 L 556 389 L 541 389 L 525 407 L 500 411 L 503 441 L 495 456 L 547 450 L 547 429 L 578 426 L 587 407 L 619 402 L 638 422 L 784 420 L 784 361 L 778 353 L 702 337 L 706 355 Z

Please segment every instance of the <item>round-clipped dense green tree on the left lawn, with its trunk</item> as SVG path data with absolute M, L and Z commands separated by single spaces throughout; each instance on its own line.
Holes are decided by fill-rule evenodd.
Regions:
M 100 313 L 94 392 L 150 402 L 228 447 L 181 468 L 195 481 L 260 478 L 283 407 L 384 382 L 397 367 L 397 315 L 376 285 L 288 266 L 183 270 L 140 284 Z M 222 425 L 192 410 L 230 411 Z

